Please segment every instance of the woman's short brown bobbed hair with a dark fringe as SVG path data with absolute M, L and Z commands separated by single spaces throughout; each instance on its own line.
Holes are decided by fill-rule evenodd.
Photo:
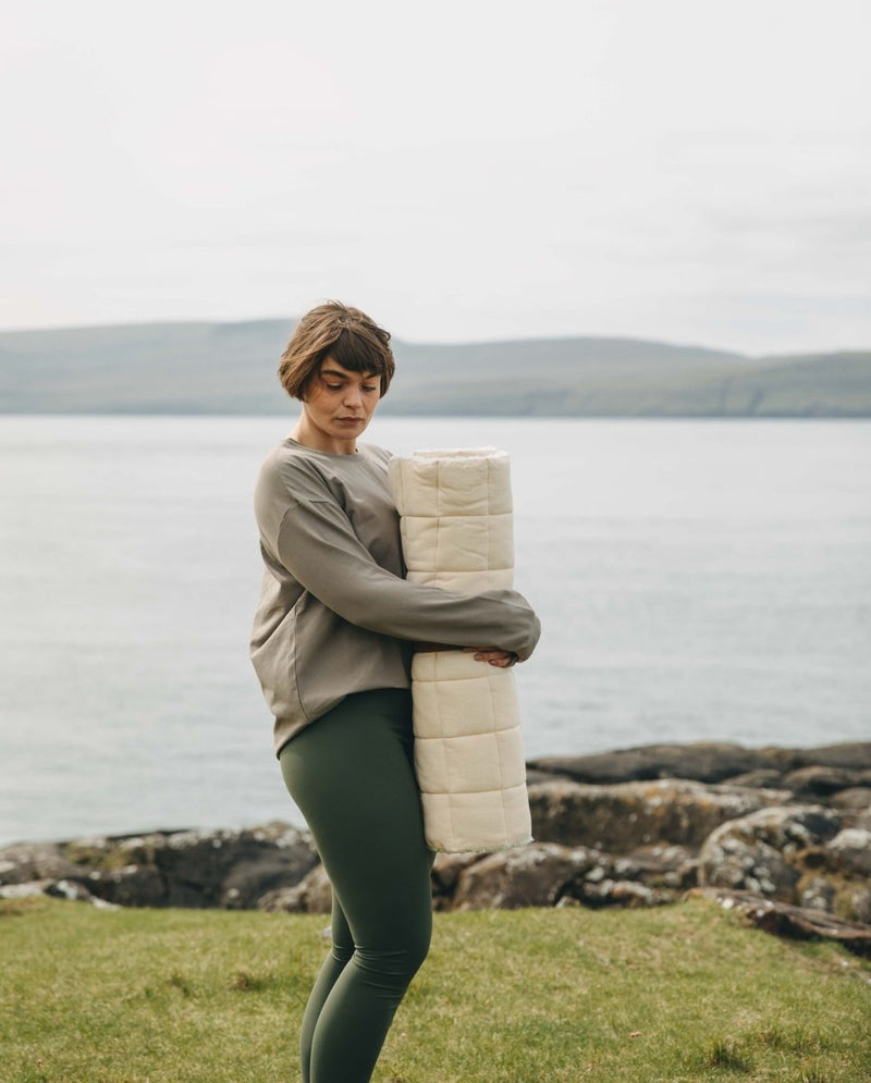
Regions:
M 281 385 L 292 398 L 305 397 L 309 380 L 327 357 L 352 372 L 381 377 L 381 394 L 387 394 L 395 369 L 390 333 L 358 308 L 330 300 L 296 324 L 279 365 Z

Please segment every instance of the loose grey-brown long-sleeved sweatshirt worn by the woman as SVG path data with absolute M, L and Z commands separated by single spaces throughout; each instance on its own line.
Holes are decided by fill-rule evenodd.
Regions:
M 277 754 L 351 692 L 408 688 L 412 641 L 522 660 L 538 642 L 538 618 L 516 591 L 465 596 L 403 579 L 389 459 L 373 444 L 332 455 L 287 438 L 260 469 L 265 568 L 250 654 Z

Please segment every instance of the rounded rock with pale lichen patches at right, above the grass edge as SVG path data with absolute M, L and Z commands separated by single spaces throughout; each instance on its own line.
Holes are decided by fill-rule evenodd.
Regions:
M 820 805 L 760 809 L 729 821 L 701 848 L 700 883 L 793 902 L 803 871 L 796 856 L 820 847 L 839 826 L 838 815 Z

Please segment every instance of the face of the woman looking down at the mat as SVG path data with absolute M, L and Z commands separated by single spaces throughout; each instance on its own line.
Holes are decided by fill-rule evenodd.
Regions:
M 324 358 L 303 399 L 309 436 L 318 441 L 321 451 L 353 443 L 369 423 L 380 397 L 381 377 L 352 372 L 331 357 Z

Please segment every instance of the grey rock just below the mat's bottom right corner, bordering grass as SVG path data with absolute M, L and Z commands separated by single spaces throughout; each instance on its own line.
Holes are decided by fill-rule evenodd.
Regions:
M 603 854 L 555 842 L 531 842 L 517 850 L 500 850 L 461 872 L 452 909 L 555 906 L 566 894 L 567 885 L 593 869 L 602 858 Z

